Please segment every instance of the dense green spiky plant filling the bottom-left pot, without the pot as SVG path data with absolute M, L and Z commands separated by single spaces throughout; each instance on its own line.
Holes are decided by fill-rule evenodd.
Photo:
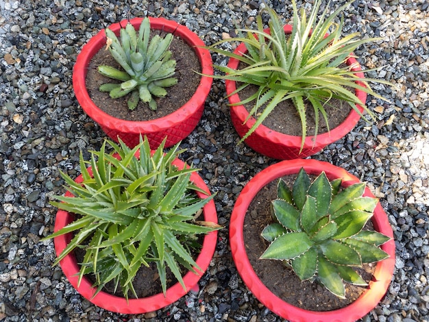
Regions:
M 112 153 L 106 153 L 106 143 Z M 164 294 L 167 266 L 185 288 L 180 265 L 193 272 L 194 267 L 199 269 L 191 256 L 191 250 L 199 247 L 197 234 L 219 229 L 215 223 L 195 221 L 213 195 L 199 199 L 195 192 L 204 191 L 190 182 L 197 169 L 171 164 L 182 152 L 178 144 L 164 154 L 162 143 L 151 155 L 146 139 L 134 149 L 119 143 L 106 140 L 100 151 L 91 151 L 89 162 L 81 153 L 81 184 L 62 173 L 73 197 L 56 196 L 61 202 L 51 204 L 77 214 L 77 219 L 47 237 L 74 234 L 54 264 L 82 248 L 86 252 L 79 283 L 92 273 L 97 293 L 113 281 L 115 292 L 120 284 L 126 298 L 130 290 L 137 297 L 132 282 L 138 269 L 151 262 L 156 263 Z M 92 166 L 92 174 L 86 164 Z

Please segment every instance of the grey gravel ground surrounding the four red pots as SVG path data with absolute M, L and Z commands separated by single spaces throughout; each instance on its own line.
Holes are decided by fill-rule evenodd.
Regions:
M 150 3 L 149 3 L 150 2 Z M 228 221 L 243 186 L 275 160 L 236 145 L 222 82 L 215 81 L 197 129 L 182 142 L 187 162 L 217 191 L 215 258 L 199 284 L 171 306 L 149 314 L 106 312 L 78 295 L 59 267 L 51 231 L 51 195 L 63 192 L 59 170 L 79 173 L 79 150 L 106 137 L 78 106 L 71 82 L 77 53 L 99 29 L 127 16 L 164 16 L 206 44 L 252 25 L 260 1 L 0 0 L 0 320 L 1 321 L 280 321 L 249 293 L 228 247 Z M 284 18 L 290 1 L 268 1 Z M 299 1 L 299 3 L 302 3 Z M 343 1 L 334 1 L 339 5 Z M 310 8 L 310 3 L 305 3 Z M 373 88 L 377 116 L 315 158 L 347 169 L 380 197 L 395 234 L 396 267 L 389 291 L 363 321 L 429 321 L 429 2 L 357 0 L 345 10 L 345 34 L 380 36 L 356 51 L 367 73 L 397 90 Z M 225 34 L 224 34 L 225 33 Z M 213 55 L 215 63 L 225 58 Z

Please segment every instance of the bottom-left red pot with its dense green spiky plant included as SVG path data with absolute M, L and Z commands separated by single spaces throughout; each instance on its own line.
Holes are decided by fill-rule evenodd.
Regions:
M 54 264 L 93 304 L 127 314 L 151 312 L 197 284 L 215 251 L 219 225 L 213 195 L 197 169 L 177 158 L 178 145 L 163 153 L 164 143 L 151 151 L 146 139 L 133 149 L 119 142 L 106 140 L 88 162 L 81 153 L 82 175 L 75 181 L 62 173 L 68 191 L 52 202 L 59 210 L 55 232 L 47 238 L 54 238 Z M 107 153 L 106 145 L 114 151 Z M 201 212 L 204 219 L 198 218 Z M 201 234 L 206 234 L 202 248 Z M 158 275 L 162 291 L 137 298 L 133 282 L 143 267 L 156 272 L 145 280 Z M 167 279 L 174 278 L 177 283 L 168 288 Z M 109 283 L 123 296 L 108 293 Z

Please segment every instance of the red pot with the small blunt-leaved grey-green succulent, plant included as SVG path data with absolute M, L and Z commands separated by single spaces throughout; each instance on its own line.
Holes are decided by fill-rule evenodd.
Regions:
M 147 23 L 145 23 L 145 21 Z M 151 29 L 150 32 L 148 32 L 149 25 Z M 134 31 L 138 29 L 140 32 L 137 33 Z M 160 37 L 156 34 L 161 32 L 167 33 L 167 36 Z M 120 36 L 119 39 L 121 41 L 117 39 L 117 36 Z M 186 47 L 186 50 L 191 54 L 182 53 L 180 50 L 171 53 L 171 50 L 169 50 L 171 38 L 173 38 L 173 42 L 176 40 L 175 38 L 178 38 L 177 41 L 184 42 L 184 47 Z M 150 49 L 154 49 L 156 52 L 147 51 L 146 49 L 149 49 L 149 46 L 152 46 Z M 195 74 L 195 72 L 192 71 L 194 68 L 195 71 L 200 69 L 201 73 L 211 75 L 213 71 L 210 52 L 207 49 L 201 48 L 201 46 L 204 46 L 204 42 L 202 42 L 197 34 L 191 32 L 191 30 L 184 25 L 164 18 L 132 18 L 130 21 L 114 23 L 110 25 L 108 29 L 101 30 L 98 34 L 93 36 L 93 38 L 84 45 L 82 51 L 77 56 L 76 64 L 73 69 L 73 89 L 77 101 L 86 114 L 98 123 L 101 129 L 103 129 L 112 140 L 117 141 L 117 137 L 119 136 L 128 146 L 134 147 L 138 144 L 141 134 L 147 136 L 151 148 L 155 149 L 160 145 L 162 140 L 167 137 L 165 147 L 170 147 L 193 131 L 199 119 L 201 119 L 204 110 L 204 102 L 211 88 L 211 77 L 202 76 L 199 78 L 199 75 L 197 75 L 197 86 L 192 88 L 192 85 L 186 83 L 188 81 L 187 78 L 191 77 L 183 76 L 180 70 L 175 68 L 176 61 L 187 62 L 191 60 L 192 56 L 195 56 L 195 60 L 199 62 L 200 66 L 192 68 L 189 66 L 186 67 L 186 70 L 189 70 L 188 73 Z M 122 69 L 118 72 L 113 71 L 109 67 L 102 67 L 101 72 L 104 73 L 103 75 L 114 77 L 118 79 L 119 82 L 122 82 L 122 90 L 117 88 L 112 92 L 114 87 L 109 87 L 108 85 L 101 88 L 101 90 L 110 92 L 110 97 L 119 97 L 127 95 L 127 92 L 132 92 L 134 88 L 138 89 L 134 91 L 133 94 L 128 94 L 127 97 L 123 98 L 125 102 L 125 108 L 123 108 L 123 113 L 125 115 L 123 119 L 105 112 L 106 108 L 110 108 L 112 113 L 116 113 L 119 110 L 118 100 L 114 101 L 114 103 L 100 103 L 101 106 L 97 106 L 90 97 L 90 90 L 88 90 L 88 82 L 90 85 L 96 83 L 94 80 L 87 81 L 86 78 L 89 73 L 98 74 L 98 66 L 93 66 L 93 60 L 97 53 L 100 52 L 102 58 L 104 58 L 103 56 L 109 56 L 103 52 L 105 51 L 103 47 L 110 50 L 117 63 L 120 65 L 119 69 L 121 69 L 121 67 Z M 171 57 L 169 57 L 170 55 Z M 182 57 L 182 55 L 186 55 L 186 57 Z M 110 59 L 112 62 L 115 62 L 113 58 Z M 124 66 L 125 69 L 123 69 Z M 130 68 L 127 68 L 127 66 Z M 157 67 L 160 67 L 160 69 L 157 70 Z M 171 70 L 174 69 L 176 69 L 175 73 L 171 73 Z M 163 73 L 163 71 L 166 70 L 167 73 Z M 156 73 L 158 73 L 158 75 L 156 75 L 157 77 L 152 77 L 154 78 L 152 79 L 154 82 L 146 84 L 146 86 L 151 84 L 149 85 L 149 89 L 145 86 L 141 86 L 142 84 L 140 84 L 140 82 L 136 84 L 136 80 L 150 80 L 149 76 Z M 132 77 L 133 75 L 136 77 Z M 167 75 L 167 77 L 161 79 L 160 75 Z M 178 81 L 176 85 L 175 79 Z M 93 92 L 97 92 L 97 95 L 100 94 L 98 92 L 98 86 L 99 85 L 93 90 Z M 164 108 L 166 103 L 162 103 L 162 108 L 158 108 L 158 112 L 154 112 L 153 110 L 156 108 L 156 99 L 152 100 L 151 97 L 162 97 L 166 94 L 164 89 L 167 89 L 168 92 L 171 93 L 173 88 L 177 86 L 182 87 L 177 88 L 179 92 L 176 97 L 172 99 L 173 103 L 171 104 L 171 108 L 173 110 L 171 110 L 169 114 L 159 117 L 158 114 L 162 112 L 162 108 Z M 194 92 L 191 91 L 188 94 L 190 98 L 188 98 L 188 101 L 184 101 L 182 106 L 178 105 L 180 100 L 186 99 L 184 88 L 186 89 L 190 86 L 190 90 L 195 89 Z M 104 93 L 104 95 L 106 95 L 106 99 L 108 99 L 109 95 L 106 93 Z M 170 94 L 167 95 L 167 98 L 169 95 Z M 177 99 L 177 96 L 179 99 Z M 143 101 L 143 103 L 140 103 L 142 106 L 138 106 L 132 111 L 139 99 Z M 127 111 L 127 103 L 130 104 L 128 105 L 131 108 L 130 111 Z M 147 105 L 145 103 L 150 104 L 150 108 L 145 106 Z M 149 110 L 149 112 L 146 110 Z M 142 112 L 149 113 L 151 119 L 142 120 Z M 134 121 L 134 118 L 137 119 L 137 121 Z

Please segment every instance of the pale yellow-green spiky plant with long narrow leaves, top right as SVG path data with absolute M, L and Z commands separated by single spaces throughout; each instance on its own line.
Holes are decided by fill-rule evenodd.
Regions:
M 249 113 L 256 118 L 256 123 L 241 138 L 243 142 L 255 129 L 262 124 L 276 106 L 286 99 L 291 99 L 302 124 L 302 147 L 307 132 L 306 102 L 315 110 L 315 136 L 319 129 L 319 114 L 323 117 L 328 130 L 328 116 L 326 108 L 330 108 L 330 99 L 340 99 L 350 104 L 360 113 L 358 106 L 373 117 L 373 113 L 360 101 L 354 89 L 367 92 L 374 97 L 383 99 L 371 90 L 367 81 L 389 84 L 379 79 L 360 78 L 355 74 L 360 72 L 355 66 L 346 66 L 349 55 L 358 46 L 380 38 L 360 39 L 359 33 L 341 38 L 343 18 L 339 23 L 334 19 L 354 0 L 341 5 L 330 14 L 328 8 L 318 16 L 321 0 L 313 3 L 312 11 L 307 17 L 304 9 L 297 9 L 293 3 L 293 21 L 290 35 L 285 35 L 283 23 L 274 10 L 265 5 L 268 12 L 269 33 L 265 32 L 262 16 L 258 15 L 256 23 L 258 29 L 237 29 L 240 35 L 237 38 L 224 39 L 208 47 L 210 50 L 235 58 L 245 65 L 243 69 L 231 69 L 228 66 L 215 66 L 225 75 L 215 75 L 221 79 L 230 79 L 240 86 L 230 95 L 240 92 L 249 85 L 257 86 L 255 94 L 232 106 L 242 105 L 254 101 Z M 247 53 L 237 55 L 218 48 L 224 42 L 244 42 Z M 262 111 L 261 111 L 262 109 Z M 290 111 L 285 111 L 290 112 Z M 248 118 L 249 119 L 249 118 Z

